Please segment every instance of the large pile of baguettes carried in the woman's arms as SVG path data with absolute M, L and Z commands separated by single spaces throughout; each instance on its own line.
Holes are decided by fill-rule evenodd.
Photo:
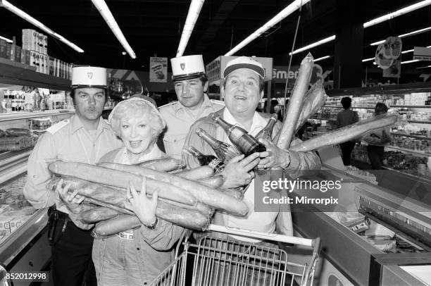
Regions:
M 86 207 L 79 219 L 84 223 L 96 223 L 96 235 L 115 233 L 137 228 L 141 225 L 130 204 L 126 203 L 129 184 L 137 192 L 146 178 L 146 194 L 158 192 L 156 216 L 176 225 L 195 230 L 205 230 L 214 209 L 245 216 L 248 209 L 239 194 L 220 189 L 223 176 L 214 175 L 213 169 L 201 166 L 191 170 L 177 160 L 161 158 L 146 161 L 137 166 L 118 163 L 86 163 L 54 161 L 49 170 L 54 178 L 49 187 L 55 189 L 63 179 L 63 187 L 84 196 Z

